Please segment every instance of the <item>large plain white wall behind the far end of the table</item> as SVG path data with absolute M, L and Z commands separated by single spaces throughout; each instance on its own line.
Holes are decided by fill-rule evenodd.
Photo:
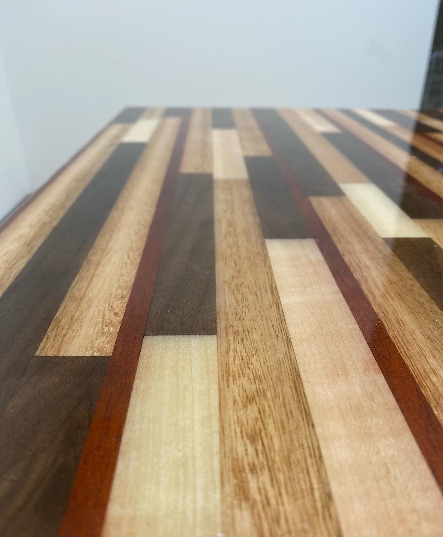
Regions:
M 437 0 L 2 0 L 31 183 L 124 105 L 416 107 Z

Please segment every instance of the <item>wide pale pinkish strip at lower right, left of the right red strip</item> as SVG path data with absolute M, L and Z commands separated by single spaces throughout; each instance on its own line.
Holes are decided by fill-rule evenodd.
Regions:
M 438 534 L 440 490 L 318 246 L 266 246 L 343 534 Z

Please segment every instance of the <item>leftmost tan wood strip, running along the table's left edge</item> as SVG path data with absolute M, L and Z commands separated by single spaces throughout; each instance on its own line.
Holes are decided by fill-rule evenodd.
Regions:
M 0 296 L 82 193 L 127 130 L 110 125 L 0 234 Z

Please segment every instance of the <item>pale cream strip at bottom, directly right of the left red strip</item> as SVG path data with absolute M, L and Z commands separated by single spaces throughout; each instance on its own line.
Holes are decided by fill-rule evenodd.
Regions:
M 146 336 L 102 537 L 220 533 L 216 336 Z

